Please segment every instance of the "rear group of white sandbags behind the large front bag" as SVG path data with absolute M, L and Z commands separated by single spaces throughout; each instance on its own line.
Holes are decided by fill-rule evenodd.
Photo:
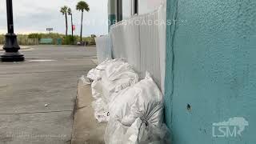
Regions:
M 93 81 L 91 89 L 95 100 L 92 106 L 98 122 L 108 122 L 111 95 L 138 82 L 138 74 L 123 59 L 106 59 L 90 70 L 87 78 Z

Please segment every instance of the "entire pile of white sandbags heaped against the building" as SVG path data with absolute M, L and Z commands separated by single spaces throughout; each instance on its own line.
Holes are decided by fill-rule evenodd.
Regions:
M 108 122 L 106 144 L 170 143 L 163 96 L 149 73 L 138 82 L 132 66 L 114 59 L 102 62 L 87 77 L 94 81 L 95 118 Z

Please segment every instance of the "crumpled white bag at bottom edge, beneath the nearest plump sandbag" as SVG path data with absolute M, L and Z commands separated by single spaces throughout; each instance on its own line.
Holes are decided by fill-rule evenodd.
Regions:
M 171 142 L 170 130 L 166 124 L 152 126 L 137 118 L 129 127 L 121 122 L 110 120 L 106 132 L 111 135 L 106 137 L 106 144 L 169 144 Z

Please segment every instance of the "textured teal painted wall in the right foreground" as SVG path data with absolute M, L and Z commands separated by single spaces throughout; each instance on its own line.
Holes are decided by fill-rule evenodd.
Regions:
M 173 143 L 255 143 L 256 1 L 167 0 L 167 20 L 173 23 L 166 27 L 166 123 Z M 249 122 L 242 136 L 212 136 L 212 123 L 234 117 Z

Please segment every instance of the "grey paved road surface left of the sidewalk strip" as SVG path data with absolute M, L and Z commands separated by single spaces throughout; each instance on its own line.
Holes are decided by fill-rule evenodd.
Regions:
M 70 143 L 78 78 L 96 50 L 32 47 L 26 62 L 0 62 L 0 144 Z

